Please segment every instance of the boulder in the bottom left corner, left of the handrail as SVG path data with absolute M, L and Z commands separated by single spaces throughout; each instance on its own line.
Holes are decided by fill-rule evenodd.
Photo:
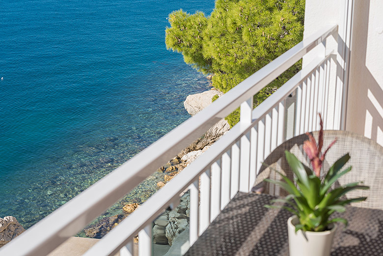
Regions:
M 23 233 L 25 229 L 13 216 L 0 218 L 0 247 Z

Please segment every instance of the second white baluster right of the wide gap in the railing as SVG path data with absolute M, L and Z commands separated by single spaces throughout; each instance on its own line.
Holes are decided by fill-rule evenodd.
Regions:
M 210 170 L 203 172 L 200 176 L 199 186 L 199 235 L 201 235 L 210 224 Z

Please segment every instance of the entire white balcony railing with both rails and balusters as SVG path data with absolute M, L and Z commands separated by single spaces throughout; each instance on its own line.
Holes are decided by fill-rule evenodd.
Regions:
M 113 228 L 89 249 L 86 256 L 133 255 L 133 237 L 138 233 L 139 256 L 151 255 L 152 222 L 179 195 L 190 190 L 190 244 L 209 226 L 238 191 L 248 192 L 257 170 L 268 154 L 286 138 L 318 129 L 317 112 L 339 129 L 341 89 L 330 93 L 331 67 L 335 53 L 318 51 L 318 57 L 252 109 L 253 95 L 326 38 L 336 38 L 337 26 L 326 28 L 287 51 L 221 96 L 205 110 L 176 127 L 105 178 L 61 206 L 42 221 L 0 249 L 4 256 L 42 256 L 53 251 L 129 193 L 154 170 L 202 136 L 221 118 L 241 106 L 240 122 L 215 142 L 171 182 Z M 325 48 L 324 48 L 325 49 Z M 332 97 L 332 98 L 331 98 Z M 330 104 L 329 102 L 337 104 Z M 340 102 L 340 103 L 339 103 Z M 328 127 L 328 124 L 326 127 Z

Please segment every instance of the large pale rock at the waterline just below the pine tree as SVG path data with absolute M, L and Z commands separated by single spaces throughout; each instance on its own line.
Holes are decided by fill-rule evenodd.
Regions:
M 212 98 L 214 95 L 221 96 L 222 92 L 218 90 L 208 90 L 197 94 L 192 94 L 186 97 L 184 101 L 184 107 L 186 111 L 191 114 L 197 114 L 210 104 L 212 104 Z

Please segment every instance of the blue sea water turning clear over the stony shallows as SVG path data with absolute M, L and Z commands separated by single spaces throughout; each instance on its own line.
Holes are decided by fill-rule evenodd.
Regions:
M 166 17 L 213 7 L 2 0 L 0 217 L 30 227 L 186 120 L 186 96 L 209 85 L 166 50 Z

